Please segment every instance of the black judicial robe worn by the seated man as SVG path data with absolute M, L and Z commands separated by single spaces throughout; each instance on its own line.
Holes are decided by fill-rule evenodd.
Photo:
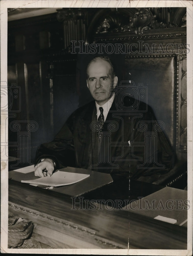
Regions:
M 137 105 L 137 109 L 130 108 L 132 105 Z M 109 132 L 111 122 L 118 127 L 110 132 L 109 168 L 105 163 L 103 169 L 100 163 L 98 171 L 134 179 L 168 172 L 172 168 L 173 153 L 163 131 L 155 131 L 157 121 L 150 106 L 140 101 L 136 104 L 136 100 L 127 96 L 124 97 L 124 110 L 120 111 L 117 106 L 115 97 L 103 128 L 103 132 Z M 50 158 L 57 169 L 66 166 L 90 169 L 90 155 L 96 154 L 92 151 L 94 110 L 95 101 L 75 110 L 54 140 L 38 147 L 36 163 L 41 158 Z

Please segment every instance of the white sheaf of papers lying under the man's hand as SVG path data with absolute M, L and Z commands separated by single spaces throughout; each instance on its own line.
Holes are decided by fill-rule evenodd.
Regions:
M 89 176 L 89 174 L 60 172 L 58 170 L 57 172 L 53 173 L 51 177 L 46 176 L 39 179 L 21 180 L 21 182 L 58 187 L 79 182 L 85 178 L 88 178 Z

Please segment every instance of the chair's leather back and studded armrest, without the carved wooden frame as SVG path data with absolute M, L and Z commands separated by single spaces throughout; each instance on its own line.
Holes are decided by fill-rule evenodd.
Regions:
M 135 86 L 147 89 L 147 97 L 141 95 L 140 101 L 150 105 L 158 121 L 165 125 L 164 133 L 175 155 L 174 168 L 170 172 L 149 177 L 140 177 L 138 180 L 179 187 L 179 180 L 186 174 L 186 162 L 180 161 L 176 155 L 176 101 L 178 95 L 176 79 L 177 58 L 170 56 L 144 56 L 125 58 L 124 80 L 132 80 Z M 176 183 L 176 185 L 175 185 Z M 178 183 L 178 185 L 177 185 Z M 185 184 L 181 180 L 180 187 Z

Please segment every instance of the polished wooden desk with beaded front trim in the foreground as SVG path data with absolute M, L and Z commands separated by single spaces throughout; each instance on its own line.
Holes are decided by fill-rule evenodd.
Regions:
M 97 189 L 95 193 L 84 195 L 84 199 L 94 199 L 97 193 L 98 199 L 101 199 L 100 196 L 105 196 L 105 191 L 110 194 L 113 189 L 116 194 L 121 184 L 117 181 Z M 132 184 L 133 192 L 128 190 L 131 198 L 134 198 L 135 191 L 144 196 L 142 194 L 145 191 L 147 193 L 151 186 L 134 181 Z M 153 190 L 153 186 L 151 189 Z M 156 189 L 159 190 L 160 187 L 155 185 L 151 193 L 157 191 Z M 126 197 L 122 194 L 122 198 Z M 83 208 L 86 208 L 88 201 L 83 202 Z M 105 205 L 96 206 L 95 210 L 72 210 L 72 199 L 69 196 L 9 181 L 9 214 L 32 221 L 32 238 L 54 248 L 127 249 L 128 237 L 130 249 L 187 248 L 185 227 L 140 216 L 127 210 L 108 210 Z

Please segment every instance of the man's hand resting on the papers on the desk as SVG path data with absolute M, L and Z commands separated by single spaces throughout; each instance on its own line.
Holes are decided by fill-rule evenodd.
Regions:
M 54 171 L 54 163 L 51 159 L 46 158 L 35 166 L 34 175 L 37 177 L 50 177 Z

